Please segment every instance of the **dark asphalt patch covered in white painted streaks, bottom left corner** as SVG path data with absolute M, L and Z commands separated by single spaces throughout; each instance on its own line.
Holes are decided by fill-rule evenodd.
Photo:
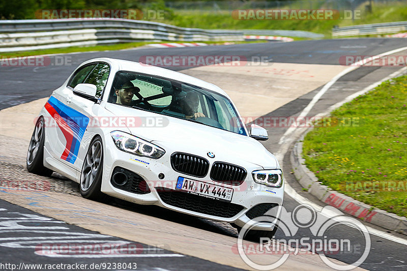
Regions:
M 2 259 L 7 259 L 7 263 L 15 264 L 21 269 L 29 268 L 29 264 L 47 263 L 47 264 L 99 264 L 100 266 L 109 266 L 109 264 L 129 265 L 131 269 L 137 270 L 161 270 L 182 269 L 182 270 L 205 270 L 222 269 L 235 270 L 230 266 L 225 266 L 210 261 L 202 260 L 196 257 L 181 255 L 165 250 L 165 247 L 154 247 L 141 243 L 129 242 L 128 240 L 109 235 L 99 234 L 78 226 L 69 225 L 65 222 L 35 214 L 15 204 L 0 200 L 2 206 L 2 222 L 0 230 L 0 242 L 2 246 Z M 20 222 L 20 223 L 16 223 Z M 22 223 L 21 223 L 22 222 Z M 92 240 L 90 242 L 89 240 Z M 111 257 L 98 257 L 98 255 L 89 255 L 93 257 L 72 257 L 57 258 L 52 257 L 52 245 L 64 244 L 65 246 L 77 247 L 76 253 L 81 249 L 86 249 L 85 245 L 92 243 L 106 246 L 106 251 L 126 251 L 126 253 L 117 253 Z M 8 249 L 7 249 L 8 248 Z M 33 249 L 35 253 L 33 253 Z M 125 255 L 123 255 L 125 254 Z M 75 254 L 73 254 L 75 256 Z M 126 257 L 130 256 L 130 257 Z M 44 261 L 44 257 L 47 257 Z M 20 265 L 20 264 L 23 265 Z M 0 266 L 3 270 L 3 267 Z M 40 269 L 40 268 L 38 268 Z M 61 268 L 64 269 L 64 268 Z M 68 269 L 68 268 L 67 268 Z M 82 268 L 85 269 L 85 268 Z M 98 267 L 95 267 L 98 269 Z M 101 268 L 103 269 L 103 268 Z M 122 269 L 122 268 L 118 268 Z M 130 268 L 123 268 L 130 269 Z

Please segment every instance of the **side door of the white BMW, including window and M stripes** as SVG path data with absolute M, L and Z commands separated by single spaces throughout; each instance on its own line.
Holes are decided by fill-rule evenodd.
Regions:
M 59 96 L 50 98 L 60 112 L 60 124 L 56 129 L 55 158 L 62 163 L 80 170 L 83 159 L 79 158 L 79 148 L 87 139 L 87 127 L 100 109 L 95 99 L 102 97 L 109 76 L 110 67 L 106 63 L 93 63 L 78 69 Z M 96 85 L 96 97 L 90 98 L 78 95 L 74 88 L 79 83 Z M 89 141 L 89 140 L 88 140 Z

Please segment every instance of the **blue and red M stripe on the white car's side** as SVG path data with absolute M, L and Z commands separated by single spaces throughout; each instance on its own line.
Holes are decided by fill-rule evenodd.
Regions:
M 55 119 L 67 141 L 61 159 L 72 164 L 75 163 L 80 141 L 89 124 L 89 117 L 65 105 L 53 96 L 45 104 L 45 109 Z

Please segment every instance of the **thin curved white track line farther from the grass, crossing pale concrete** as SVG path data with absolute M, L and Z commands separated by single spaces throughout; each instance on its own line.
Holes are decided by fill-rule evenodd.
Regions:
M 382 53 L 382 54 L 377 54 L 377 55 L 372 56 L 371 59 L 370 59 L 370 61 L 373 61 L 374 59 L 377 59 L 377 58 L 381 58 L 382 56 L 390 55 L 390 54 L 397 53 L 397 52 L 401 52 L 401 51 L 404 51 L 404 50 L 407 50 L 407 47 L 401 47 L 401 48 L 398 48 L 398 49 L 394 49 L 394 50 L 391 50 L 391 51 L 387 51 L 387 52 Z M 342 72 L 338 73 L 334 78 L 332 78 L 328 83 L 326 83 L 326 84 L 321 88 L 321 90 L 319 90 L 319 92 L 312 98 L 311 102 L 309 102 L 309 104 L 301 111 L 301 113 L 300 113 L 299 116 L 300 116 L 300 117 L 301 117 L 301 116 L 306 116 L 306 115 L 309 113 L 309 111 L 312 109 L 312 107 L 314 107 L 314 105 L 319 101 L 319 99 L 321 99 L 321 97 L 328 91 L 328 89 L 329 89 L 339 78 L 341 78 L 342 76 L 344 76 L 344 75 L 347 74 L 347 73 L 352 72 L 353 70 L 358 69 L 360 66 L 362 66 L 362 64 L 363 64 L 365 61 L 366 61 L 366 60 L 358 61 L 358 62 L 356 62 L 356 63 L 354 64 L 354 66 L 351 66 L 351 67 L 349 67 L 349 68 L 343 70 Z M 369 62 L 370 62 L 370 61 L 369 61 Z M 280 138 L 280 141 L 278 142 L 278 144 L 280 144 L 280 145 L 283 144 L 284 141 L 287 140 L 286 137 L 287 137 L 289 134 L 293 133 L 294 130 L 296 130 L 296 127 L 290 127 L 290 128 L 288 128 L 287 131 L 285 131 L 284 135 Z

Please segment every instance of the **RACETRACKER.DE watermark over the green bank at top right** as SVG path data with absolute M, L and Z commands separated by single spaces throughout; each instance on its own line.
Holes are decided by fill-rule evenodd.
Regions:
M 360 10 L 333 9 L 240 9 L 231 13 L 235 20 L 348 20 L 360 19 Z

